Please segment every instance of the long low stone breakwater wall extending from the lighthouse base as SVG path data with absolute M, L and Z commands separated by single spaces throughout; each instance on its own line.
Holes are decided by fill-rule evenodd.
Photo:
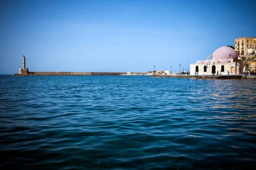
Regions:
M 30 72 L 28 74 L 13 74 L 13 76 L 104 76 L 122 75 L 126 72 Z

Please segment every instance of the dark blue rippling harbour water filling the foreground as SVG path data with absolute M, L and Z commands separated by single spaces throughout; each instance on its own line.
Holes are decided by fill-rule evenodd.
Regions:
M 0 76 L 0 169 L 253 169 L 255 85 Z

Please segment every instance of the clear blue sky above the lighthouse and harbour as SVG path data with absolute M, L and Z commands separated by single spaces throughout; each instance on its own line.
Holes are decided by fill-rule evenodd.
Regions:
M 255 0 L 1 0 L 0 74 L 189 68 L 256 37 Z

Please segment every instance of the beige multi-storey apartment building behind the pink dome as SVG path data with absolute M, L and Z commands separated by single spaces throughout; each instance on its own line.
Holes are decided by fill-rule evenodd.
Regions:
M 241 57 L 244 55 L 255 54 L 256 37 L 241 37 L 235 39 L 235 51 L 236 54 Z

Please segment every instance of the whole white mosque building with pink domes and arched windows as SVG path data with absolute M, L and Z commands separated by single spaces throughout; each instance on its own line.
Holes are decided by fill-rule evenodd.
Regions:
M 209 55 L 206 60 L 198 60 L 195 64 L 190 64 L 190 73 L 193 75 L 198 72 L 199 75 L 213 74 L 227 75 L 227 71 L 232 74 L 242 74 L 243 60 L 236 54 L 233 48 L 223 46 Z

